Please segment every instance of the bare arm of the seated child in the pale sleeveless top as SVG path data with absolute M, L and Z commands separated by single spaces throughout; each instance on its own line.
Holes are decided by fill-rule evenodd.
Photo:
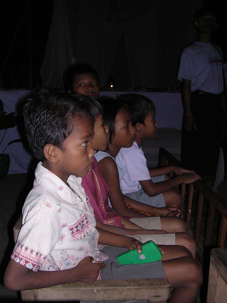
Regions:
M 146 215 L 143 215 L 138 211 L 133 211 L 132 209 L 127 208 L 125 205 L 124 197 L 120 189 L 117 165 L 114 160 L 111 157 L 103 158 L 98 162 L 98 168 L 110 188 L 110 191 L 108 191 L 108 196 L 113 209 L 115 209 L 122 216 L 137 218 L 146 217 Z

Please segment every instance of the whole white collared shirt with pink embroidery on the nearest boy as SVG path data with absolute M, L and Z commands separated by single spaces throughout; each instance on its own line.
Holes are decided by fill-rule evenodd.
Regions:
M 33 271 L 75 267 L 86 256 L 108 257 L 99 251 L 99 233 L 81 178 L 69 176 L 69 188 L 38 163 L 34 186 L 22 209 L 22 227 L 11 255 Z

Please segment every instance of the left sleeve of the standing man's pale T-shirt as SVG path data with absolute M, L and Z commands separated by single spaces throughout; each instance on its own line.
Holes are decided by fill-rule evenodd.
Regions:
M 180 66 L 177 79 L 182 81 L 182 79 L 187 79 L 192 81 L 193 76 L 193 53 L 185 48 L 181 54 Z

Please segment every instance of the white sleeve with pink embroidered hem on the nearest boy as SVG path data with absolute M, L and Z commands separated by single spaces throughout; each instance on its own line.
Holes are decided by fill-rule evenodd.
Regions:
M 48 205 L 38 205 L 28 212 L 11 258 L 38 271 L 60 238 L 60 223 Z

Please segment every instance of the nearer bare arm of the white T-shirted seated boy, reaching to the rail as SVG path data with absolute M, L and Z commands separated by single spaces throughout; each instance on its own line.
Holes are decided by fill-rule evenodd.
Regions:
M 142 186 L 144 192 L 149 196 L 149 197 L 154 197 L 156 195 L 159 195 L 171 188 L 174 188 L 175 186 L 179 184 L 187 184 L 187 183 L 193 183 L 194 181 L 200 179 L 200 176 L 191 173 L 191 174 L 184 174 L 177 176 L 175 178 L 171 178 L 166 181 L 161 181 L 157 183 L 153 183 L 152 180 L 143 180 L 139 181 L 140 185 Z

